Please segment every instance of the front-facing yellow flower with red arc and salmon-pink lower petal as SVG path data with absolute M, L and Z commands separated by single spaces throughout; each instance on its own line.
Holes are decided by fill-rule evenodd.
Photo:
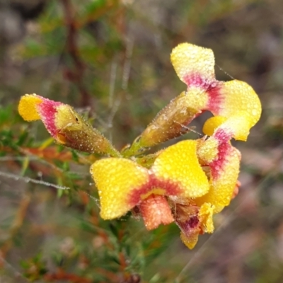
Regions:
M 91 175 L 98 187 L 103 219 L 120 217 L 137 207 L 149 230 L 171 223 L 178 214 L 178 202 L 193 204 L 209 190 L 197 158 L 197 141 L 169 146 L 150 169 L 125 158 L 105 158 L 93 163 Z

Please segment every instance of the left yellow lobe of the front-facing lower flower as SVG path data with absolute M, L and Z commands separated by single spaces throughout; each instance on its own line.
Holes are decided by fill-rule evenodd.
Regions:
M 96 182 L 103 219 L 124 215 L 135 204 L 129 202 L 129 194 L 147 182 L 148 171 L 137 163 L 124 158 L 105 158 L 91 166 L 91 175 Z

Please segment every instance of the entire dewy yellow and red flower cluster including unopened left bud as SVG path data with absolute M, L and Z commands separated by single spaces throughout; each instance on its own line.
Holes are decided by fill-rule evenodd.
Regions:
M 25 95 L 18 110 L 25 120 L 41 119 L 59 144 L 107 156 L 91 166 L 103 219 L 134 209 L 149 230 L 175 221 L 183 243 L 193 248 L 200 234 L 214 231 L 212 216 L 238 192 L 241 154 L 230 141 L 246 141 L 260 118 L 261 105 L 247 83 L 215 79 L 212 50 L 183 43 L 173 49 L 171 62 L 187 90 L 121 152 L 69 105 Z M 146 149 L 184 134 L 206 110 L 214 117 L 204 123 L 202 139 L 145 154 Z

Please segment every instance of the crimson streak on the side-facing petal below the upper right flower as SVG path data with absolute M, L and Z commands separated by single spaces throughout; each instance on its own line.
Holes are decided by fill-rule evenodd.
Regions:
M 219 141 L 218 145 L 218 158 L 212 163 L 209 164 L 211 169 L 212 178 L 216 179 L 219 175 L 221 175 L 222 168 L 226 162 L 226 156 L 231 151 L 231 144 L 229 143 L 231 139 L 231 134 L 229 132 L 225 132 L 224 129 L 218 129 L 214 134 L 215 139 Z

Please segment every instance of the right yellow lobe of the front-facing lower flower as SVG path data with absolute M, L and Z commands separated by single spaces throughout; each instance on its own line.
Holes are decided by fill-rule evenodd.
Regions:
M 207 176 L 197 159 L 197 141 L 180 141 L 156 158 L 151 171 L 157 178 L 178 183 L 185 197 L 200 197 L 208 192 Z

